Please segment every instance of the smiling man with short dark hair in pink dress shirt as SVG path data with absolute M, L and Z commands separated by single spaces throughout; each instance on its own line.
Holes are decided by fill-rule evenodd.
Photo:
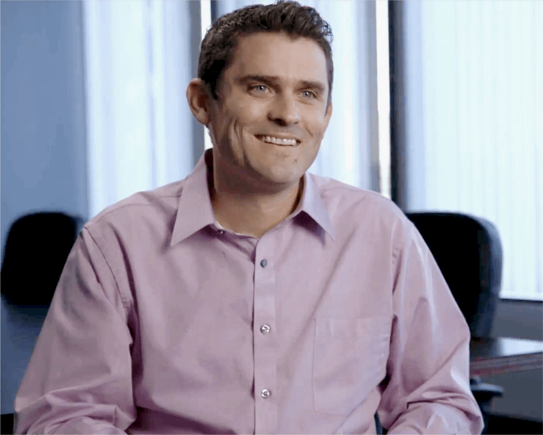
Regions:
M 294 2 L 207 33 L 187 89 L 212 150 L 85 225 L 15 400 L 16 433 L 481 433 L 469 329 L 386 198 L 307 174 L 329 26 Z

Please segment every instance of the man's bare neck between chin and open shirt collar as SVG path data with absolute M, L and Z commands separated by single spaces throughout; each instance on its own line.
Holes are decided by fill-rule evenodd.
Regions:
M 303 177 L 285 190 L 242 193 L 231 190 L 213 173 L 211 205 L 217 222 L 225 229 L 260 238 L 285 220 L 298 206 Z

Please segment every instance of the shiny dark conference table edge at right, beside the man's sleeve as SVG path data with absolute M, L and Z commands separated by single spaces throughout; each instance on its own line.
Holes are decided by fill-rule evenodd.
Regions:
M 520 338 L 479 338 L 470 341 L 470 377 L 543 369 L 543 342 Z

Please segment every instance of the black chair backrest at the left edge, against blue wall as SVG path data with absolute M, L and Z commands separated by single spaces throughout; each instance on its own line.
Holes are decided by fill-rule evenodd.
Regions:
M 11 225 L 0 270 L 0 292 L 12 305 L 49 305 L 82 228 L 79 216 L 30 213 Z

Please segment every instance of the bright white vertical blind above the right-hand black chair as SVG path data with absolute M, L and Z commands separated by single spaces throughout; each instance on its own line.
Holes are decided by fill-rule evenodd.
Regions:
M 543 2 L 417 7 L 425 162 L 417 208 L 489 219 L 503 245 L 501 297 L 543 300 Z

